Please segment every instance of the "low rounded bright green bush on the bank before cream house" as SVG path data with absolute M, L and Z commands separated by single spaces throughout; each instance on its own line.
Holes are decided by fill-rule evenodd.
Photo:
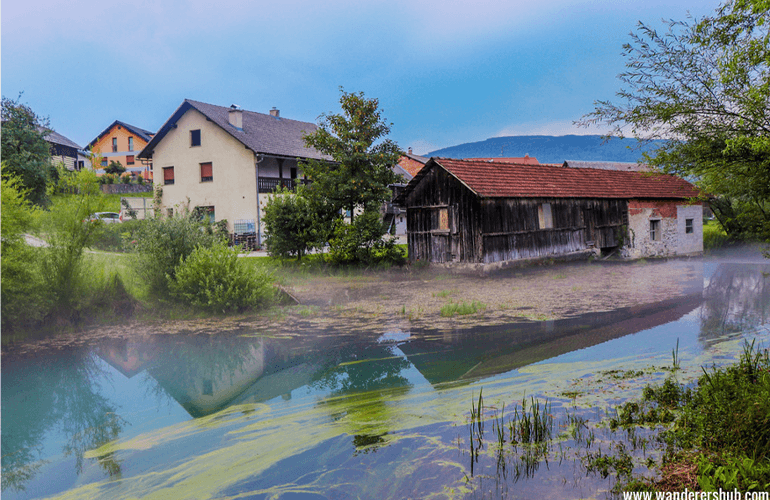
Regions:
M 238 251 L 220 241 L 197 247 L 176 268 L 169 280 L 172 295 L 212 312 L 242 311 L 270 303 L 275 297 L 272 275 L 249 270 Z

